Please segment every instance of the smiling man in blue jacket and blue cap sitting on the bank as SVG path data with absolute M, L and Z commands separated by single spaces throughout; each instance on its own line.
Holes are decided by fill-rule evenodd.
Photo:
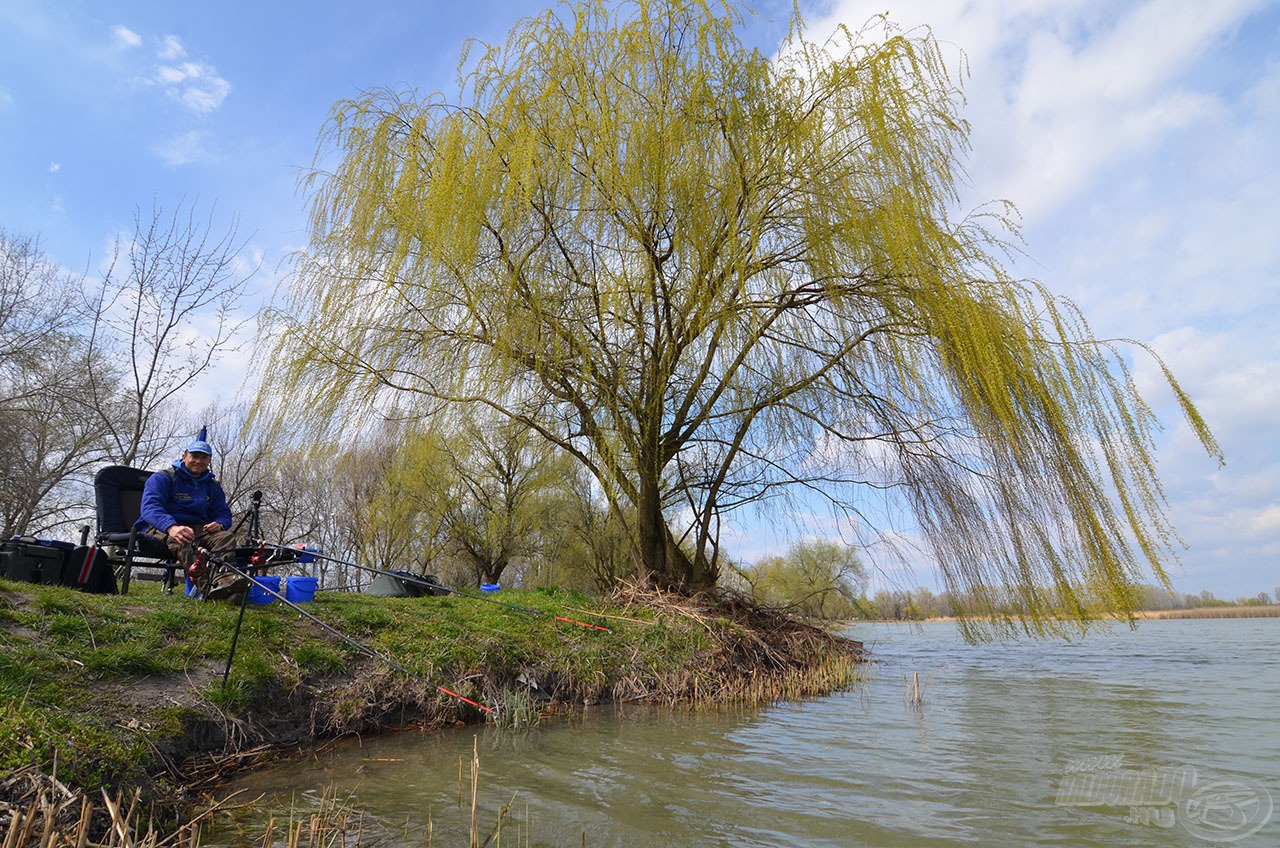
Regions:
M 147 478 L 142 491 L 142 515 L 137 526 L 163 541 L 183 573 L 196 561 L 197 547 L 215 555 L 234 556 L 236 537 L 230 533 L 232 510 L 221 484 L 209 470 L 214 448 L 205 441 L 205 428 L 187 446 L 173 468 Z M 210 598 L 227 598 L 247 585 L 243 576 L 220 575 Z

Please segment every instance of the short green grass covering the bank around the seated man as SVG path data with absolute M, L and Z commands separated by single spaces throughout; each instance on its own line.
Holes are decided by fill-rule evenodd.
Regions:
M 513 594 L 507 597 L 548 610 L 568 597 Z M 608 657 L 617 665 L 618 643 L 608 634 L 567 632 L 568 625 L 550 619 L 468 598 L 320 593 L 306 608 L 447 687 L 481 673 L 515 680 L 532 666 L 594 679 Z M 49 770 L 56 757 L 69 783 L 138 780 L 150 766 L 148 749 L 180 738 L 187 712 L 175 712 L 163 698 L 154 706 L 131 705 L 122 690 L 142 680 L 168 680 L 189 690 L 187 680 L 198 666 L 206 667 L 209 681 L 192 703 L 211 713 L 250 711 L 273 688 L 291 690 L 307 679 L 351 675 L 356 667 L 412 683 L 276 603 L 246 611 L 224 688 L 220 671 L 238 612 L 232 605 L 198 603 L 137 583 L 129 596 L 116 597 L 0 582 L 0 772 L 33 763 Z M 486 694 L 474 685 L 467 692 Z

